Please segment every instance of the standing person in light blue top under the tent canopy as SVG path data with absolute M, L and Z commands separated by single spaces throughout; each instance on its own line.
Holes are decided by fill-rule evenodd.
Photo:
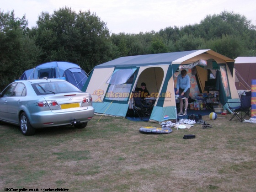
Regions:
M 190 93 L 190 78 L 187 75 L 187 70 L 182 69 L 181 74 L 178 75 L 178 77 L 177 77 L 176 95 L 179 94 L 179 96 L 180 96 L 180 112 L 177 115 L 187 115 L 189 93 Z M 183 113 L 183 100 L 185 100 L 184 113 Z

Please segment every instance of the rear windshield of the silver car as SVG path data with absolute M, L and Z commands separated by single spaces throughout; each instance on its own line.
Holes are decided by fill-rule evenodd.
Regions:
M 55 93 L 70 93 L 80 91 L 74 85 L 67 81 L 47 81 L 34 83 L 32 87 L 37 95 L 55 94 Z

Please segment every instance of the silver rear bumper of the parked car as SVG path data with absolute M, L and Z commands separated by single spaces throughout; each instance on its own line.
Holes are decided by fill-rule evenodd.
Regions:
M 94 108 L 88 107 L 83 111 L 73 111 L 65 113 L 53 113 L 51 111 L 47 113 L 32 114 L 29 118 L 30 124 L 33 128 L 46 128 L 56 127 L 71 124 L 74 119 L 85 123 L 91 120 L 94 116 Z

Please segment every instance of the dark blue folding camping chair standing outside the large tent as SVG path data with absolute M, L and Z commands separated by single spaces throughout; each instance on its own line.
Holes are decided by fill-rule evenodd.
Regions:
M 244 118 L 248 116 L 251 118 L 251 91 L 245 91 L 240 98 L 240 102 L 227 102 L 229 109 L 233 112 L 233 116 L 229 121 L 234 117 L 240 122 L 243 122 Z

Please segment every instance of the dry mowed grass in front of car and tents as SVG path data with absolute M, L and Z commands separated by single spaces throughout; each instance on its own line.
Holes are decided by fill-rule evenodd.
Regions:
M 140 127 L 160 125 L 108 116 L 84 129 L 40 129 L 29 137 L 0 123 L 0 191 L 255 192 L 256 124 L 229 118 L 203 116 L 213 128 L 195 124 L 169 134 L 142 134 Z

